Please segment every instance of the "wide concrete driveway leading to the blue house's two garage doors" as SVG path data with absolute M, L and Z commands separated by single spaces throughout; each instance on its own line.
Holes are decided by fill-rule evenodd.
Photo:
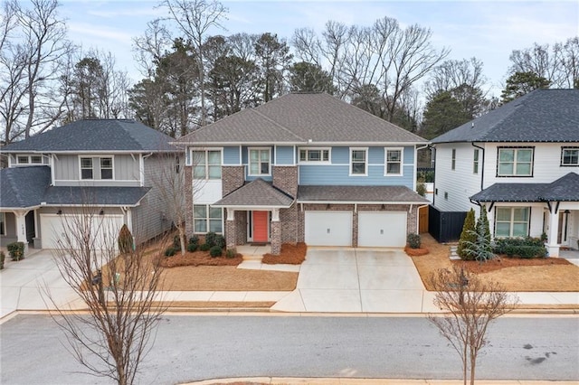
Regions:
M 331 313 L 436 311 L 401 249 L 308 248 L 298 285 L 272 310 Z

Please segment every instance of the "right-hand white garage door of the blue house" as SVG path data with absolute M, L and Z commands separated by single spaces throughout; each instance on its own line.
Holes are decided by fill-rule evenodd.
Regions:
M 403 248 L 406 245 L 406 212 L 358 212 L 358 246 Z

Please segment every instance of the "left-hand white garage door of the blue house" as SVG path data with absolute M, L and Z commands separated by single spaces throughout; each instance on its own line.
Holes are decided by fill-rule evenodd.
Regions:
M 308 246 L 352 246 L 351 211 L 306 211 Z

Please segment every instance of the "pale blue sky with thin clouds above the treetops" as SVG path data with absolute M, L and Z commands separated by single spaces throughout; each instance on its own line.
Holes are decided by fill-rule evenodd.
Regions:
M 165 16 L 157 1 L 62 0 L 71 40 L 85 51 L 112 52 L 119 69 L 139 80 L 132 59 L 132 38 L 148 21 Z M 226 31 L 212 34 L 277 33 L 290 39 L 294 30 L 309 27 L 320 33 L 328 20 L 348 25 L 371 25 L 394 17 L 402 26 L 418 23 L 432 30 L 436 47 L 451 49 L 450 59 L 476 57 L 498 95 L 514 49 L 565 42 L 579 35 L 579 1 L 222 1 L 229 8 Z

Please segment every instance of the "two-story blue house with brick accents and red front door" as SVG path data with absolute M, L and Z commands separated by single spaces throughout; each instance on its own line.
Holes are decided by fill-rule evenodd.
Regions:
M 187 232 L 396 247 L 418 232 L 419 136 L 323 93 L 294 93 L 183 136 Z

